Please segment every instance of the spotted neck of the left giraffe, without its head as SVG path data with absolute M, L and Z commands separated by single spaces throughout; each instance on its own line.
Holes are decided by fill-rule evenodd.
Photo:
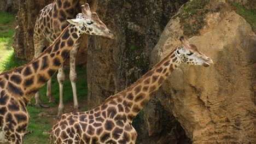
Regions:
M 23 98 L 27 104 L 63 64 L 80 35 L 77 28 L 68 25 L 37 59 L 2 73 L 0 89 L 14 97 Z

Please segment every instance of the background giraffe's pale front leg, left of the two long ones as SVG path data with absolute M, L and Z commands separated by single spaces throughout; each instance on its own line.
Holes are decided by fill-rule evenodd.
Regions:
M 63 105 L 63 82 L 65 80 L 65 73 L 64 73 L 64 68 L 63 65 L 59 68 L 58 74 L 57 74 L 57 79 L 59 82 L 59 87 L 60 87 L 60 103 L 58 107 L 58 117 L 61 116 L 64 113 L 64 105 Z

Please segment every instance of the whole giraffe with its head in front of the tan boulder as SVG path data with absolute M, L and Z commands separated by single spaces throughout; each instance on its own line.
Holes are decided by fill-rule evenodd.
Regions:
M 110 96 L 102 105 L 86 112 L 63 114 L 51 130 L 50 143 L 135 143 L 137 133 L 131 123 L 168 75 L 182 63 L 204 67 L 213 63 L 184 37 L 180 40 L 182 46 L 176 47 L 141 79 Z

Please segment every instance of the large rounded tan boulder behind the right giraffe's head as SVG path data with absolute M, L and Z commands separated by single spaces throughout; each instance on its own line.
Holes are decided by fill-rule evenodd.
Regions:
M 184 20 L 191 5 L 184 5 L 168 23 L 151 60 L 158 63 L 180 44 L 178 38 L 185 34 L 213 59 L 214 65 L 208 68 L 182 65 L 156 93 L 156 99 L 181 123 L 193 143 L 254 143 L 256 35 L 225 1 L 210 1 L 198 7 L 196 13 L 205 14 L 200 17 L 201 22 L 196 13 Z M 211 9 L 203 12 L 205 8 Z M 158 111 L 150 106 L 152 103 L 147 111 Z M 159 129 L 165 128 L 155 130 L 149 126 L 152 133 L 158 133 Z

